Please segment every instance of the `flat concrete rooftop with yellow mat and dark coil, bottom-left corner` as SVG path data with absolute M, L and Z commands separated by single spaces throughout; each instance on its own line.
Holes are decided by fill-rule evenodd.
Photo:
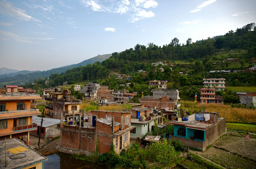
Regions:
M 20 153 L 24 153 L 26 156 L 24 158 L 11 159 L 10 156 L 12 155 L 14 155 L 14 157 L 21 156 L 21 155 L 17 155 L 19 153 L 13 154 L 7 150 L 15 147 L 19 147 L 19 146 L 28 149 L 28 151 L 20 152 Z M 35 151 L 34 149 L 31 149 L 30 147 L 25 145 L 23 142 L 21 142 L 17 138 L 6 139 L 6 156 L 7 156 L 6 168 L 23 168 L 35 163 L 48 160 L 47 157 L 42 156 L 37 151 Z M 5 140 L 0 140 L 0 168 L 5 168 Z

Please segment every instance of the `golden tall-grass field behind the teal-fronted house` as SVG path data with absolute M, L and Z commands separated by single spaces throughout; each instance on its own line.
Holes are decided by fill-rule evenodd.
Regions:
M 190 114 L 200 110 L 219 112 L 220 117 L 225 118 L 226 122 L 256 124 L 256 109 L 237 108 L 221 104 L 200 104 L 189 101 L 181 102 L 181 109 L 185 109 L 185 112 L 187 111 Z

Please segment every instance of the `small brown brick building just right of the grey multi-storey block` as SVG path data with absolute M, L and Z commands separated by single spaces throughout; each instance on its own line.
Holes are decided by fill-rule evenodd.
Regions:
M 114 90 L 110 90 L 108 86 L 100 86 L 97 90 L 97 100 L 100 103 L 108 103 L 114 100 Z

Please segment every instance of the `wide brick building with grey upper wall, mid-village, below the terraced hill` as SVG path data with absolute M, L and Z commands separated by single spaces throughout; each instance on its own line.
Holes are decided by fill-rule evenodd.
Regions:
M 180 97 L 178 90 L 155 90 L 151 91 L 153 96 L 144 96 L 139 99 L 145 107 L 169 107 L 170 110 L 179 109 Z

